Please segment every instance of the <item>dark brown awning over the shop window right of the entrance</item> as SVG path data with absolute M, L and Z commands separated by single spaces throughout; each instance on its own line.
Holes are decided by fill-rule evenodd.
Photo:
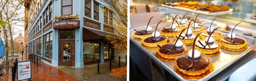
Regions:
M 89 27 L 83 27 L 83 40 L 105 39 L 107 35 L 114 34 Z

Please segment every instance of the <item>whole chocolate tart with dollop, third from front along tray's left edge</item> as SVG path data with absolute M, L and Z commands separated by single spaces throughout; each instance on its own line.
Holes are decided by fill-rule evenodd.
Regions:
M 162 22 L 162 20 L 160 22 Z M 158 24 L 157 24 L 157 27 L 158 27 Z M 155 28 L 155 30 L 157 30 L 157 27 Z M 157 47 L 157 45 L 163 45 L 167 43 L 167 41 L 168 41 L 168 37 L 161 36 L 161 34 L 158 31 L 154 31 L 152 33 L 152 36 L 142 39 L 142 44 L 147 47 Z

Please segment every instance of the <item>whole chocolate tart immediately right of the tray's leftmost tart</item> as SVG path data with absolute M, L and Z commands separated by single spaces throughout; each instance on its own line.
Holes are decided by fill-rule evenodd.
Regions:
M 178 15 L 179 15 L 179 14 L 178 14 Z M 175 18 L 176 18 L 178 15 L 176 15 L 176 16 L 173 18 L 173 21 L 175 20 Z M 179 33 L 181 32 L 180 29 L 178 29 L 178 28 L 172 28 L 172 26 L 173 26 L 173 22 L 172 22 L 172 24 L 171 24 L 171 28 L 170 28 L 170 27 L 168 27 L 168 28 L 162 28 L 162 29 L 160 30 L 160 34 L 163 35 L 163 36 L 167 36 L 167 37 L 173 37 L 173 36 L 175 36 L 175 35 L 177 35 L 177 34 L 179 34 Z

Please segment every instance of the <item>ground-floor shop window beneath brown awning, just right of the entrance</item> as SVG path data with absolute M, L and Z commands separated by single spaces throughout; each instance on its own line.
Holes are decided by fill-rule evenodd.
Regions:
M 98 42 L 83 43 L 83 61 L 93 61 L 99 59 L 100 46 Z

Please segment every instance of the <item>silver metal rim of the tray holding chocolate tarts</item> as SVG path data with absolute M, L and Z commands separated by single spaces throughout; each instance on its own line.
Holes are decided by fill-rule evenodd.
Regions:
M 186 22 L 189 22 L 188 20 L 186 20 Z M 165 22 L 165 23 L 170 23 L 170 22 Z M 161 24 L 165 24 L 165 23 L 161 23 Z M 191 22 L 193 23 L 193 22 Z M 153 24 L 151 26 L 155 26 L 156 24 Z M 204 24 L 199 24 L 198 25 L 200 26 L 204 26 L 204 27 L 209 27 L 209 26 L 206 26 Z M 145 26 L 144 26 L 145 27 Z M 138 28 L 143 28 L 143 27 L 138 27 Z M 133 28 L 133 29 L 130 29 L 130 31 L 134 30 L 134 29 L 138 29 L 138 28 Z M 229 31 L 225 31 L 225 30 L 219 30 L 217 29 L 218 31 L 224 31 L 224 32 L 229 32 Z M 176 77 L 178 80 L 181 80 L 181 81 L 187 81 L 186 79 L 182 78 L 180 75 L 178 75 L 177 73 L 175 73 L 172 69 L 170 69 L 167 65 L 165 65 L 162 61 L 160 61 L 158 58 L 156 58 L 153 54 L 151 54 L 150 52 L 148 52 L 144 47 L 140 46 L 137 42 L 135 42 L 135 40 L 131 37 L 131 33 L 130 32 L 130 40 L 135 43 L 136 46 L 138 46 L 139 48 L 143 49 L 142 51 L 144 53 L 146 53 L 147 55 L 149 55 L 149 57 L 151 57 L 151 59 L 154 59 L 154 61 L 156 61 L 157 63 L 159 63 L 159 65 L 163 66 L 163 69 L 167 70 L 167 72 L 169 72 L 170 74 L 172 74 L 174 77 Z M 237 34 L 238 36 L 245 36 L 245 35 L 241 35 L 241 34 Z M 252 37 L 249 37 L 249 36 L 245 36 L 247 38 L 251 38 L 251 39 L 255 39 L 255 38 L 252 38 Z M 235 59 L 233 59 L 232 61 L 230 61 L 229 63 L 227 63 L 226 65 L 222 66 L 221 68 L 219 68 L 218 70 L 216 71 L 213 71 L 212 73 L 208 74 L 207 76 L 205 76 L 204 78 L 201 78 L 199 79 L 200 81 L 205 81 L 205 80 L 209 80 L 211 79 L 212 77 L 216 76 L 218 73 L 222 72 L 224 69 L 226 69 L 227 67 L 229 67 L 230 65 L 232 65 L 234 62 L 236 62 L 237 60 L 241 59 L 242 57 L 244 57 L 246 54 L 248 54 L 252 49 L 253 47 L 256 46 L 256 43 L 254 45 L 252 45 L 251 47 L 248 47 L 247 50 L 245 50 L 243 53 L 241 53 L 240 55 L 238 55 Z

